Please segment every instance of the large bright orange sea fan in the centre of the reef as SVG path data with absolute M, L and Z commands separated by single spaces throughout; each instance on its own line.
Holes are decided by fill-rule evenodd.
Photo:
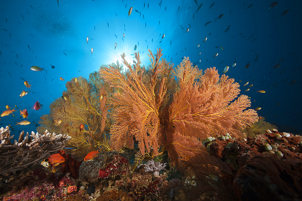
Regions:
M 136 145 L 142 155 L 152 151 L 154 157 L 162 146 L 162 152 L 178 164 L 199 152 L 198 139 L 226 132 L 242 137 L 241 130 L 258 120 L 255 110 L 246 110 L 251 105 L 248 97 L 237 98 L 240 90 L 234 79 L 224 74 L 219 78 L 215 68 L 202 74 L 188 58 L 173 70 L 173 64 L 160 60 L 161 56 L 161 49 L 156 55 L 149 50 L 151 65 L 145 69 L 138 53 L 132 66 L 121 55 L 126 75 L 111 65 L 99 70 L 111 87 L 121 89 L 112 103 L 116 109 L 110 131 L 113 149 Z

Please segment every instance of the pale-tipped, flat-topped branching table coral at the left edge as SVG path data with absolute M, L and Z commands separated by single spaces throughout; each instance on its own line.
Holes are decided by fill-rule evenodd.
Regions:
M 24 137 L 24 131 L 22 131 L 19 140 L 11 143 L 14 136 L 10 136 L 9 127 L 2 127 L 0 131 L 0 177 L 15 173 L 56 153 L 71 138 L 64 134 L 51 134 L 47 130 L 44 134 L 27 132 Z

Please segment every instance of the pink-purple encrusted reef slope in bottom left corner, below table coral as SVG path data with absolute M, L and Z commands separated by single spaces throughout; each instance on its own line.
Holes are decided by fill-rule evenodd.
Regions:
M 75 190 L 77 183 L 68 174 L 61 177 L 62 176 L 43 168 L 41 165 L 31 166 L 27 168 L 25 174 L 20 174 L 14 179 L 11 179 L 8 184 L 3 185 L 0 183 L 0 200 L 44 201 L 63 198 L 63 200 L 66 200 L 67 194 L 69 194 L 69 197 L 75 195 L 75 197 L 82 197 L 81 200 L 89 200 L 82 190 L 68 193 L 69 185 L 73 186 L 72 189 Z M 62 185 L 62 183 L 65 184 Z

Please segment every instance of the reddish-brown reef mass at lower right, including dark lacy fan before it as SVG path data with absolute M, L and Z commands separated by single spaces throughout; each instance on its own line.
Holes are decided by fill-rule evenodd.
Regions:
M 160 196 L 175 200 L 301 200 L 302 137 L 276 129 L 266 132 L 247 139 L 230 138 L 228 133 L 207 139 L 206 150 L 179 166 L 183 177 L 164 183 Z

